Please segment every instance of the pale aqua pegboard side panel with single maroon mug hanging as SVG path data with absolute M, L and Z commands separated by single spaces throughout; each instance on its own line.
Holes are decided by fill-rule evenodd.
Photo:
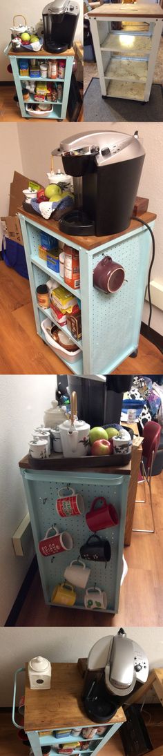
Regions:
M 120 362 L 129 349 L 132 352 L 137 347 L 140 331 L 137 313 L 141 312 L 149 259 L 148 234 L 143 231 L 112 248 L 109 246 L 105 254 L 123 265 L 125 282 L 114 294 L 106 294 L 95 288 L 93 290 L 92 349 L 96 373 L 103 372 L 108 363 L 114 363 L 117 354 Z M 94 254 L 94 268 L 101 259 L 103 253 Z

